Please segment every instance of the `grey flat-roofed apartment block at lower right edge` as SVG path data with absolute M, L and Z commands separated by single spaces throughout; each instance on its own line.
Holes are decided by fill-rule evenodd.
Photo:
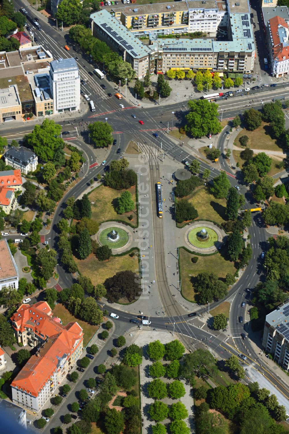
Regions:
M 275 362 L 289 371 L 289 303 L 266 315 L 262 345 Z

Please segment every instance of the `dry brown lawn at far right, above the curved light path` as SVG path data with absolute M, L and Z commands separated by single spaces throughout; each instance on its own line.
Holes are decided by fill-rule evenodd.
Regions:
M 269 123 L 262 122 L 262 124 L 256 128 L 254 131 L 248 131 L 243 129 L 237 135 L 234 140 L 234 145 L 238 148 L 242 148 L 240 145 L 239 138 L 243 135 L 249 137 L 249 141 L 247 147 L 250 149 L 266 149 L 268 151 L 282 151 L 282 149 L 277 145 L 277 141 L 272 139 L 269 134 L 266 132 L 269 130 Z M 242 148 L 244 149 L 244 148 Z

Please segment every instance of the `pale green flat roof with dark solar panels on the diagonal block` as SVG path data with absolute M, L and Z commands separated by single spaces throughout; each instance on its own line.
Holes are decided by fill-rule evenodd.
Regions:
M 90 18 L 134 58 L 148 56 L 149 49 L 107 10 L 92 13 Z

